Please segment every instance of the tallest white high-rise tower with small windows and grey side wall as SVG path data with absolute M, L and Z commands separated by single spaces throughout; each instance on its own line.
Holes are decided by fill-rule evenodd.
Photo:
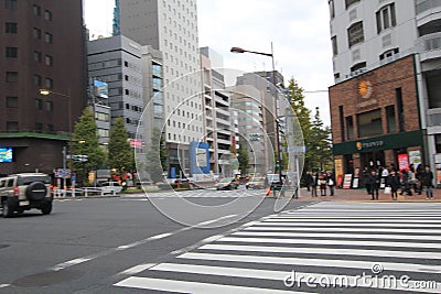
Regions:
M 196 1 L 119 2 L 120 33 L 163 57 L 164 134 L 171 176 L 190 173 L 190 143 L 203 141 Z

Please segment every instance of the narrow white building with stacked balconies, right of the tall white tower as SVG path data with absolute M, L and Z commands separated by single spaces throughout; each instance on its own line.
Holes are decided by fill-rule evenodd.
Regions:
M 209 144 L 209 170 L 230 174 L 232 127 L 229 94 L 225 90 L 222 56 L 209 47 L 201 48 L 202 92 L 205 109 L 206 142 Z

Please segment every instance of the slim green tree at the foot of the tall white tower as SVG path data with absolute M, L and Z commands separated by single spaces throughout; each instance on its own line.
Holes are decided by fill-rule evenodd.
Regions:
M 150 179 L 153 182 L 162 182 L 162 173 L 168 170 L 168 152 L 163 135 L 158 128 L 153 129 L 151 144 L 146 156 L 146 167 Z

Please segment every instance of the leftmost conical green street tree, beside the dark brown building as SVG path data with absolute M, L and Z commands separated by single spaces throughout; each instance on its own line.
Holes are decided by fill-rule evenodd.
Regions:
M 74 171 L 85 178 L 87 171 L 99 168 L 106 160 L 106 153 L 99 146 L 97 126 L 93 112 L 85 108 L 72 134 L 72 154 L 87 155 L 86 162 L 74 162 Z

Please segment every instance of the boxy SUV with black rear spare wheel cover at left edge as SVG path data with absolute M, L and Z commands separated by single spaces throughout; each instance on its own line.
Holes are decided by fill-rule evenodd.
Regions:
M 0 178 L 0 202 L 3 217 L 32 208 L 43 215 L 52 211 L 51 177 L 41 173 L 13 174 Z

